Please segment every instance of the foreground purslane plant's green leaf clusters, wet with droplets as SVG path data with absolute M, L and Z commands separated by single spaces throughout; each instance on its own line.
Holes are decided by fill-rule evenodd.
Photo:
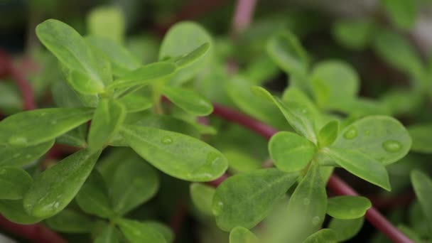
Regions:
M 246 85 L 239 92 L 271 107 L 273 112 L 259 116 L 274 121 L 269 116 L 282 114 L 276 119 L 288 121 L 274 121 L 287 130 L 269 142 L 276 168 L 238 173 L 210 188 L 201 182 L 219 178 L 231 161 L 198 139 L 210 130 L 195 117 L 210 114 L 212 104 L 182 87 L 211 58 L 212 40 L 200 26 L 190 22 L 173 26 L 161 45 L 159 61 L 148 65 L 116 41 L 82 38 L 60 21 L 45 21 L 36 33 L 58 58 L 68 84 L 58 97 L 63 107 L 21 112 L 0 122 L 0 144 L 10 155 L 1 158 L 0 176 L 11 188 L 0 195 L 0 212 L 13 222 L 45 220 L 63 232 L 93 231 L 96 242 L 116 242 L 121 235 L 131 242 L 172 242 L 173 234 L 161 223 L 125 216 L 156 194 L 157 168 L 193 182 L 193 202 L 198 210 L 215 216 L 220 229 L 230 232 L 230 242 L 338 242 L 356 233 L 347 234 L 345 227 L 358 229 L 371 204 L 360 196 L 327 198 L 325 182 L 333 167 L 390 190 L 385 166 L 411 148 L 408 132 L 392 117 L 341 120 L 323 115 L 305 92 L 312 92 L 322 109 L 350 113 L 353 104 L 365 107 L 355 97 L 357 77 L 335 62 L 310 72 L 296 38 L 283 32 L 269 40 L 267 51 L 296 79 L 294 85 L 281 99 L 262 87 Z M 347 81 L 342 93 L 335 92 L 338 83 L 332 83 L 335 70 Z M 241 84 L 242 78 L 236 78 L 236 85 Z M 180 107 L 187 119 L 163 114 L 162 96 Z M 236 100 L 241 103 L 242 97 Z M 359 113 L 365 115 L 365 110 Z M 80 151 L 32 179 L 20 167 L 41 157 L 54 142 Z M 126 148 L 114 148 L 97 163 L 107 146 Z M 87 215 L 67 207 L 74 198 Z M 330 226 L 320 229 L 325 215 L 332 217 Z M 258 229 L 256 237 L 249 229 L 263 220 L 267 227 Z

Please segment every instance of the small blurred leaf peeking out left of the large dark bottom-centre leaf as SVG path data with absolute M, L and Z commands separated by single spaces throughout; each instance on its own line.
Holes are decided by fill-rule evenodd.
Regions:
M 193 205 L 205 215 L 213 215 L 212 202 L 215 190 L 215 188 L 202 183 L 190 184 L 189 191 Z

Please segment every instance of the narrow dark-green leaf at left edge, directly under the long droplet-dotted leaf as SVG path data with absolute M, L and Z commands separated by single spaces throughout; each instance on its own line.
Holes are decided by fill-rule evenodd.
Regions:
M 41 158 L 41 156 L 43 156 L 43 154 L 46 153 L 53 144 L 54 140 L 26 148 L 0 146 L 0 168 L 4 166 L 25 166 L 26 164 Z

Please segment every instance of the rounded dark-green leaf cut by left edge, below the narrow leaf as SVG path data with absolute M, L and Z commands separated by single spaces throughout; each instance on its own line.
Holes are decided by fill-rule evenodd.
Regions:
M 22 168 L 0 168 L 0 199 L 17 200 L 23 198 L 33 179 Z

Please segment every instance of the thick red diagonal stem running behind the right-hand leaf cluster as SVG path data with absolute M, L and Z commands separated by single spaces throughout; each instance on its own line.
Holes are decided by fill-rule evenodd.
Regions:
M 272 128 L 271 126 L 262 124 L 260 121 L 257 121 L 252 117 L 248 117 L 245 114 L 241 114 L 234 109 L 223 107 L 219 104 L 213 104 L 213 106 L 215 107 L 213 115 L 227 119 L 228 121 L 236 122 L 237 124 L 251 129 L 266 139 L 270 139 L 271 136 L 276 133 L 276 129 Z M 222 175 L 221 178 L 218 178 L 210 184 L 215 186 L 220 185 L 220 183 L 222 183 L 225 178 L 227 178 L 227 175 Z M 358 195 L 358 193 L 352 189 L 350 185 L 347 185 L 347 183 L 334 174 L 331 175 L 330 179 L 328 180 L 328 188 L 333 190 L 338 195 Z M 392 225 L 392 223 L 382 216 L 374 207 L 371 207 L 369 210 L 367 210 L 366 219 L 372 225 L 374 225 L 374 227 L 377 227 L 379 231 L 387 235 L 389 239 L 392 239 L 393 242 L 412 242 L 411 239 L 406 237 L 406 235 L 400 232 L 399 229 L 396 229 L 396 227 L 394 227 L 394 225 Z

